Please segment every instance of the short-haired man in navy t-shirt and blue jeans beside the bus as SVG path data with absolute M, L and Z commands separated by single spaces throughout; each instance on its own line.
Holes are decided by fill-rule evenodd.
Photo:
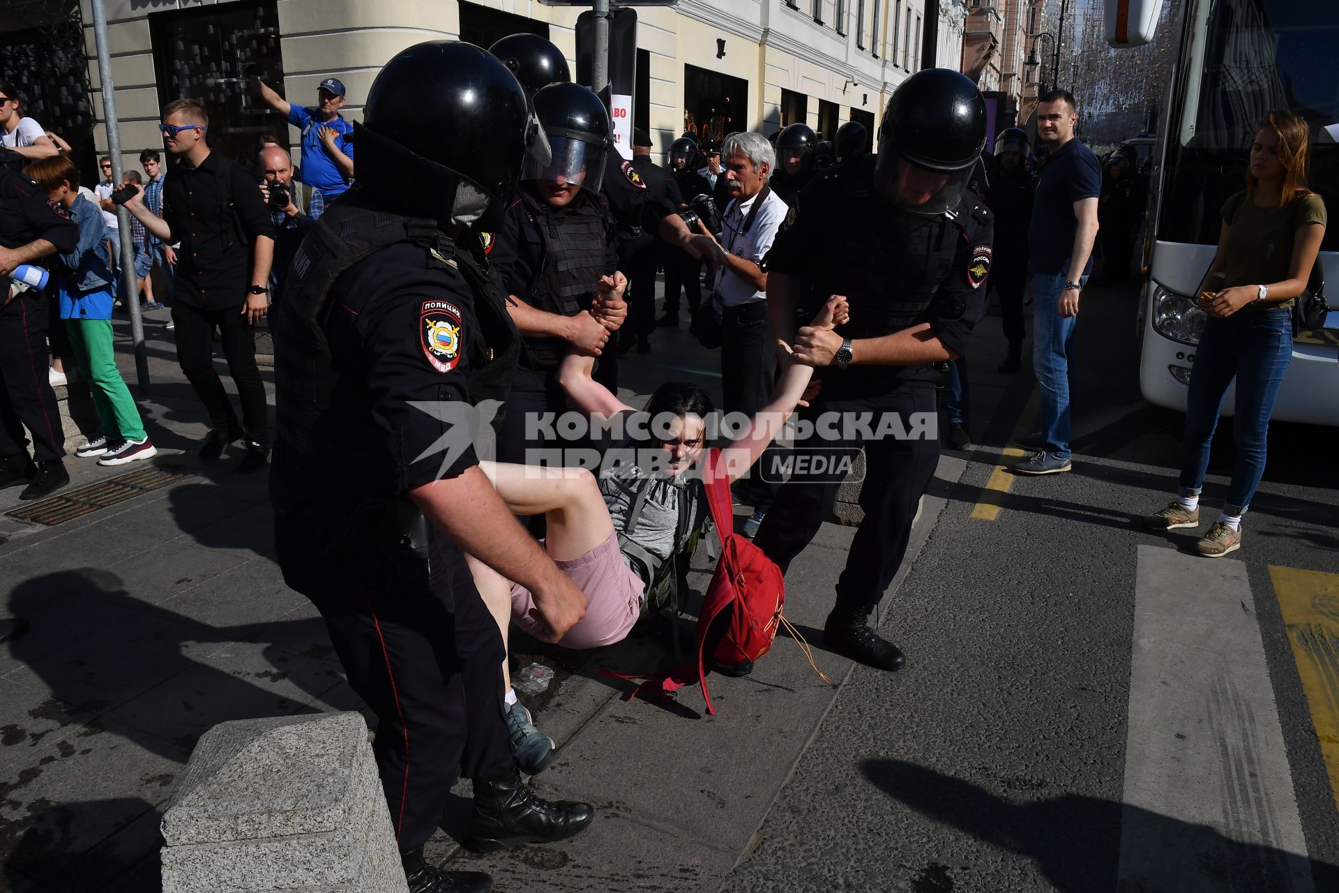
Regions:
M 1036 182 L 1027 234 L 1032 266 L 1032 371 L 1040 391 L 1040 424 L 1019 446 L 1032 450 L 1015 474 L 1070 470 L 1070 360 L 1079 295 L 1093 272 L 1097 199 L 1102 165 L 1074 137 L 1078 108 L 1066 90 L 1052 90 L 1036 106 L 1036 135 L 1050 150 Z

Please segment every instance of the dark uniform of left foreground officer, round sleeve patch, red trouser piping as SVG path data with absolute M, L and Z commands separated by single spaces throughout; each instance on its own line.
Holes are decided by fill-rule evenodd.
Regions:
M 378 768 L 411 849 L 439 826 L 457 767 L 478 779 L 514 764 L 497 621 L 459 546 L 407 498 L 477 465 L 463 416 L 434 407 L 467 406 L 471 370 L 489 363 L 475 309 L 486 276 L 428 226 L 406 232 L 359 198 L 351 190 L 317 222 L 272 321 L 284 349 L 270 494 L 284 580 L 321 612 L 349 687 L 379 719 Z M 321 236 L 366 245 L 387 229 L 404 241 L 321 296 L 332 254 Z

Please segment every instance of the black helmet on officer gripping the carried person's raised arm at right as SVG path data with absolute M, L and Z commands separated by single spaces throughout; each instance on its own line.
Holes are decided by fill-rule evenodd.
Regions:
M 952 210 L 983 149 L 986 99 L 976 84 L 948 68 L 917 71 L 893 91 L 878 127 L 880 190 L 917 214 Z

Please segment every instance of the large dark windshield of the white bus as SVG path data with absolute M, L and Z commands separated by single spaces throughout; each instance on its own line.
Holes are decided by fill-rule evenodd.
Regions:
M 1287 108 L 1311 129 L 1311 187 L 1339 210 L 1339 3 L 1186 0 L 1169 108 L 1158 238 L 1216 245 L 1245 189 L 1255 127 Z M 1324 250 L 1339 250 L 1328 226 Z

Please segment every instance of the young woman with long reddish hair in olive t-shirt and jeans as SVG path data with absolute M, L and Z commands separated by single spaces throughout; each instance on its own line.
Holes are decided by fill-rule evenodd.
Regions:
M 1307 189 L 1308 142 L 1307 125 L 1296 115 L 1265 115 L 1251 146 L 1247 187 L 1223 205 L 1218 250 L 1200 285 L 1200 308 L 1209 319 L 1190 372 L 1180 495 L 1145 523 L 1153 530 L 1200 525 L 1209 443 L 1236 378 L 1232 483 L 1217 522 L 1197 544 L 1209 558 L 1241 548 L 1241 515 L 1264 474 L 1269 415 L 1292 359 L 1291 308 L 1326 232 L 1324 202 Z

